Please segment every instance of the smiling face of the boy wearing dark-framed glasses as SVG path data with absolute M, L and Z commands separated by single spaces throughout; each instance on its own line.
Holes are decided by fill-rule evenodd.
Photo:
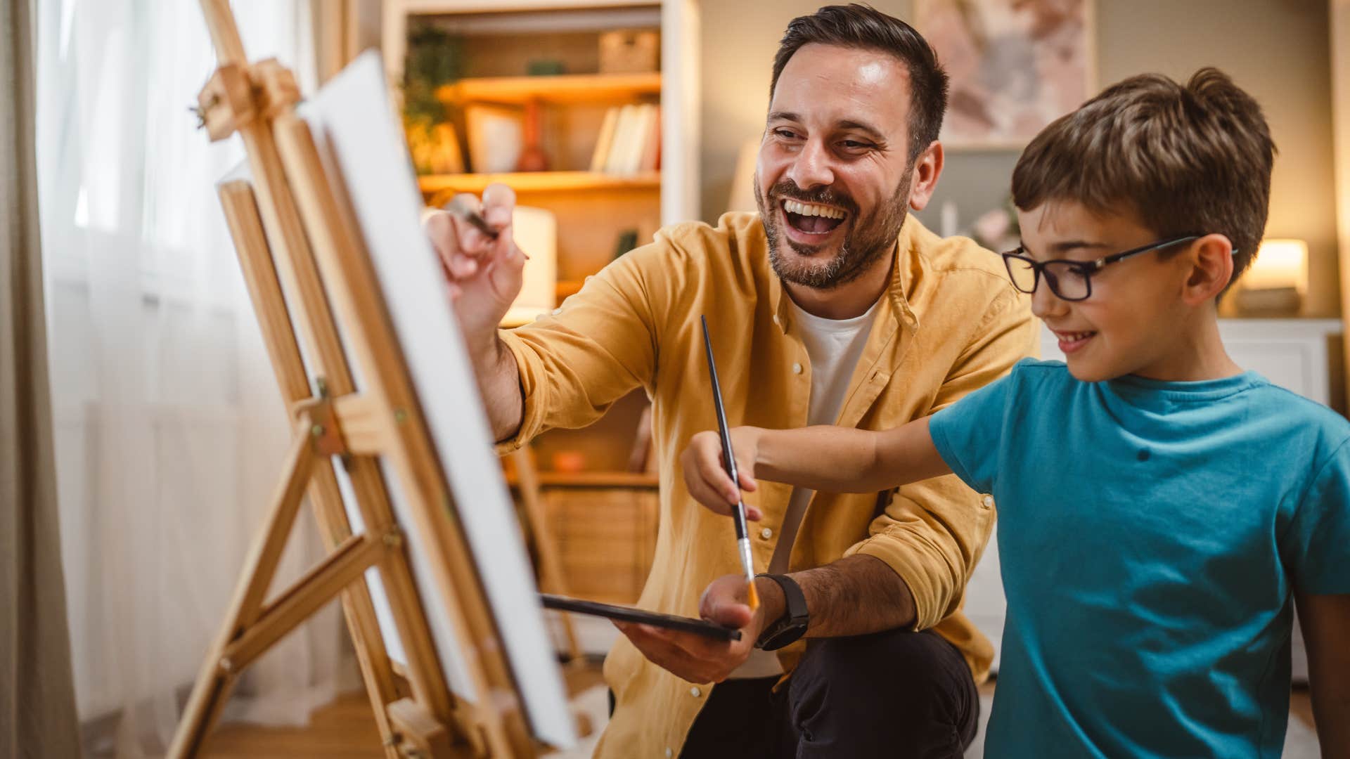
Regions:
M 1161 238 L 1133 213 L 1100 215 L 1073 201 L 1045 203 L 1018 211 L 1022 246 L 1035 261 L 1091 262 L 1146 246 Z M 1031 296 L 1031 311 L 1060 340 L 1069 371 L 1080 381 L 1099 382 L 1125 374 L 1169 380 L 1169 365 L 1188 330 L 1192 308 L 1183 290 L 1192 273 L 1183 246 L 1134 255 L 1091 274 L 1092 294 L 1066 301 L 1042 276 Z

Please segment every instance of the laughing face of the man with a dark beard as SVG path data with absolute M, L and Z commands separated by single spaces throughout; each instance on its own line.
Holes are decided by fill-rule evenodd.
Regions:
M 806 45 L 788 59 L 755 173 L 780 278 L 830 289 L 890 253 L 910 199 L 909 112 L 894 55 Z

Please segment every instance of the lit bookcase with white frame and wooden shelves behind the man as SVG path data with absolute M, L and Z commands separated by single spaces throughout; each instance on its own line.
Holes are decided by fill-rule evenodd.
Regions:
M 613 259 L 622 231 L 636 230 L 641 244 L 663 224 L 697 219 L 697 0 L 385 0 L 382 50 L 394 88 L 404 81 L 412 30 L 433 24 L 455 39 L 459 78 L 435 86 L 435 100 L 451 115 L 468 173 L 420 176 L 424 201 L 439 205 L 455 193 L 481 193 L 502 182 L 514 189 L 518 204 L 554 212 L 559 301 Z M 657 70 L 605 73 L 599 35 L 617 30 L 655 31 Z M 541 68 L 551 73 L 526 76 Z M 630 162 L 622 170 L 608 163 L 610 172 L 591 170 L 606 113 L 640 104 L 659 105 L 647 108 L 648 134 L 659 135 L 657 170 L 632 170 Z M 475 166 L 467 112 L 477 107 L 535 109 L 547 170 Z M 639 153 L 645 166 L 656 155 L 651 150 L 632 155 Z M 594 425 L 551 431 L 533 443 L 544 511 L 576 596 L 633 601 L 645 579 L 657 479 L 626 467 L 647 405 L 643 393 L 633 393 Z M 608 558 L 597 556 L 587 543 L 587 535 L 603 525 L 630 533 Z M 593 646 L 585 631 L 582 637 L 595 651 L 608 642 Z

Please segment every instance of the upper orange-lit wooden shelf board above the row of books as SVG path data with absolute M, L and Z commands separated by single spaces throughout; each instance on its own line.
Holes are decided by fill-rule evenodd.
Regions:
M 447 84 L 436 97 L 450 105 L 464 103 L 606 103 L 660 96 L 662 74 L 558 74 L 544 77 L 467 78 Z

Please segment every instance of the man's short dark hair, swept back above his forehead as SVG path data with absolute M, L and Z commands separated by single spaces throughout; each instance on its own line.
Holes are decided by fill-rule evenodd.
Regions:
M 859 3 L 825 5 L 810 16 L 792 19 L 774 55 L 770 100 L 787 61 L 811 43 L 878 50 L 899 58 L 910 72 L 910 161 L 937 139 L 946 112 L 946 72 L 937 62 L 933 46 L 914 27 Z

